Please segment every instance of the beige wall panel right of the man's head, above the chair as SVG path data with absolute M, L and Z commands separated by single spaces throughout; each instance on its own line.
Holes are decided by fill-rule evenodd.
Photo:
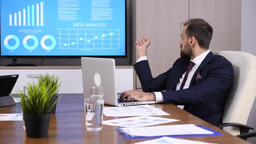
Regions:
M 213 26 L 211 51 L 241 50 L 241 0 L 190 0 L 189 17 Z

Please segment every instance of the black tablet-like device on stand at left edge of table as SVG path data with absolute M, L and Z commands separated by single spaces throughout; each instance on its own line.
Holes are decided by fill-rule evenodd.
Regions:
M 9 94 L 12 92 L 19 75 L 1 75 L 0 76 L 0 107 L 15 105 L 15 101 Z

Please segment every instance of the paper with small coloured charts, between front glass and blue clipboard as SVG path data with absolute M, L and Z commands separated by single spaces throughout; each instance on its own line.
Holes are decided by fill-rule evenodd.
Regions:
M 120 118 L 114 120 L 103 121 L 103 124 L 113 125 L 118 127 L 126 128 L 135 128 L 135 127 L 144 127 L 155 124 L 163 124 L 167 122 L 180 121 L 170 118 L 158 118 L 151 116 L 140 116 L 140 117 L 131 117 L 131 118 Z

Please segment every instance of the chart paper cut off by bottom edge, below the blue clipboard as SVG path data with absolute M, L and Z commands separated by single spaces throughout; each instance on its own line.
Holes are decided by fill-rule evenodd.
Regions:
M 133 143 L 133 144 L 213 144 L 213 143 L 184 140 L 184 139 L 178 139 L 178 138 L 172 138 L 172 137 L 161 137 L 158 139 L 142 141 L 142 142 Z

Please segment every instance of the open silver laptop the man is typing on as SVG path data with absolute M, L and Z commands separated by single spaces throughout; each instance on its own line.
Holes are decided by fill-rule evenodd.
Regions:
M 90 87 L 104 87 L 104 103 L 114 106 L 154 104 L 155 101 L 119 101 L 117 93 L 115 59 L 81 58 L 84 98 L 90 98 Z

